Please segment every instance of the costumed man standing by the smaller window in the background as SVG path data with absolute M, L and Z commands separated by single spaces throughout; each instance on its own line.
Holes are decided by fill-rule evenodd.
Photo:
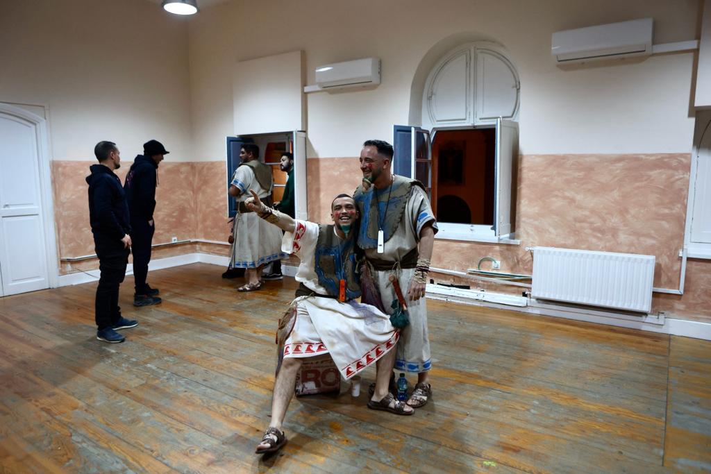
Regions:
M 279 253 L 282 232 L 245 207 L 245 200 L 250 197 L 248 190 L 255 190 L 260 199 L 271 204 L 272 168 L 260 162 L 259 158 L 260 149 L 257 145 L 242 145 L 242 163 L 237 166 L 230 183 L 230 195 L 237 199 L 230 264 L 232 268 L 247 269 L 247 283 L 237 291 L 261 289 L 264 264 L 282 258 Z

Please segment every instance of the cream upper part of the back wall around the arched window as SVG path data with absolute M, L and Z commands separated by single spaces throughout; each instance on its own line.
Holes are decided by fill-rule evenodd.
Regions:
M 692 54 L 562 70 L 550 56 L 550 35 L 651 16 L 655 43 L 685 41 L 695 35 L 697 13 L 697 0 L 234 1 L 203 9 L 189 28 L 196 150 L 204 159 L 225 155 L 235 61 L 302 49 L 309 83 L 320 64 L 382 59 L 379 87 L 307 99 L 309 156 L 356 156 L 364 139 L 390 140 L 392 125 L 410 120 L 420 62 L 462 33 L 510 51 L 522 83 L 523 153 L 688 152 Z

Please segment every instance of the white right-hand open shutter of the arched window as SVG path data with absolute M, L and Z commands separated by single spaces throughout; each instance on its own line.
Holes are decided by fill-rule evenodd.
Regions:
M 496 237 L 505 237 L 511 233 L 511 176 L 515 153 L 518 153 L 518 124 L 499 117 L 496 120 L 496 215 L 493 225 Z

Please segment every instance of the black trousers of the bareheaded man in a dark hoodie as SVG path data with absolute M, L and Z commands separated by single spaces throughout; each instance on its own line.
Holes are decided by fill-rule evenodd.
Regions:
M 121 319 L 119 285 L 126 276 L 129 250 L 120 240 L 94 239 L 99 257 L 99 286 L 96 288 L 96 325 L 99 330 L 114 325 Z

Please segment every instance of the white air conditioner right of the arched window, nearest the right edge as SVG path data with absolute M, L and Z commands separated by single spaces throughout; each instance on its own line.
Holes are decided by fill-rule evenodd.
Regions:
M 557 31 L 550 53 L 559 64 L 651 55 L 652 24 L 652 18 L 641 18 Z

